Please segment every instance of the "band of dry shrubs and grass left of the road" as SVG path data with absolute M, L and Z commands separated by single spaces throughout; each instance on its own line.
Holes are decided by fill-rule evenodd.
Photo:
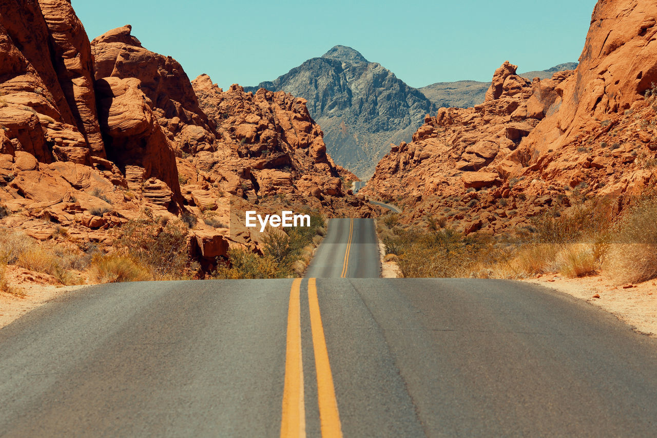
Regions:
M 47 241 L 22 231 L 0 232 L 0 291 L 21 295 L 7 281 L 7 266 L 47 274 L 53 284 L 114 283 L 121 281 L 192 280 L 200 278 L 287 278 L 304 272 L 314 250 L 326 234 L 325 219 L 311 216 L 309 228 L 270 228 L 261 236 L 261 253 L 235 247 L 219 257 L 212 275 L 191 256 L 189 239 L 196 216 L 169 219 L 145 209 L 111 232 L 103 244 L 78 241 L 62 226 L 55 226 Z M 204 219 L 212 222 L 214 217 Z M 217 224 L 223 226 L 223 224 Z

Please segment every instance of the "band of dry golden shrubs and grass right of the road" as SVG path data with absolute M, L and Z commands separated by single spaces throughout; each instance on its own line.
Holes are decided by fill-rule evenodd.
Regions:
M 618 203 L 589 199 L 554 206 L 514 233 L 464 235 L 445 218 L 400 224 L 378 221 L 386 257 L 405 277 L 530 278 L 557 272 L 568 278 L 604 273 L 619 284 L 657 278 L 657 197 L 645 193 Z

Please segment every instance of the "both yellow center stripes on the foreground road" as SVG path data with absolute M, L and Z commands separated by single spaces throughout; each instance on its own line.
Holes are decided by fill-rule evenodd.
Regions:
M 301 279 L 292 282 L 288 308 L 287 353 L 285 357 L 285 383 L 283 388 L 283 418 L 281 437 L 306 437 L 306 408 L 304 406 L 304 366 L 301 353 Z M 322 437 L 342 437 L 342 426 L 335 397 L 333 375 L 328 362 L 324 326 L 317 300 L 317 282 L 308 280 L 308 307 L 310 328 L 315 352 L 317 372 L 317 404 Z

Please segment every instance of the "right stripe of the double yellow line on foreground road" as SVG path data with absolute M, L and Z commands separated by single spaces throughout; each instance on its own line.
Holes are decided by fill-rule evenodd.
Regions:
M 322 317 L 317 301 L 316 279 L 308 280 L 308 306 L 310 308 L 310 327 L 313 332 L 313 349 L 315 350 L 315 370 L 317 372 L 317 402 L 319 404 L 319 423 L 322 438 L 342 437 L 338 401 L 335 398 L 333 376 L 328 363 L 327 343 L 324 337 Z

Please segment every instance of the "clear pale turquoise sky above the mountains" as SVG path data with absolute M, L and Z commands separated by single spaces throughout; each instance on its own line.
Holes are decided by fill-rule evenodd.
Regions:
M 595 0 L 73 0 L 87 34 L 124 24 L 191 79 L 221 87 L 273 80 L 336 44 L 379 62 L 413 87 L 489 81 L 577 61 Z

